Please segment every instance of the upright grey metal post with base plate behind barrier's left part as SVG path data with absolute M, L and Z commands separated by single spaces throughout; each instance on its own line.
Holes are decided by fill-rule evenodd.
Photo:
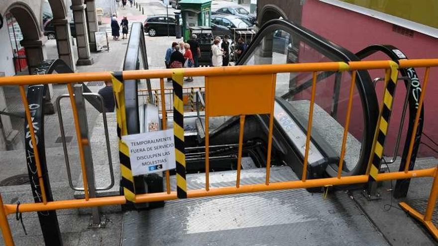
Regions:
M 96 197 L 96 180 L 94 176 L 93 156 L 91 153 L 90 138 L 88 132 L 87 112 L 85 109 L 85 98 L 83 95 L 82 84 L 75 84 L 75 103 L 78 109 L 79 127 L 81 129 L 81 139 L 83 141 L 84 157 L 87 170 L 88 192 L 90 198 Z M 92 208 L 92 223 L 89 224 L 91 228 L 103 228 L 106 226 L 105 222 L 101 221 L 99 207 Z

